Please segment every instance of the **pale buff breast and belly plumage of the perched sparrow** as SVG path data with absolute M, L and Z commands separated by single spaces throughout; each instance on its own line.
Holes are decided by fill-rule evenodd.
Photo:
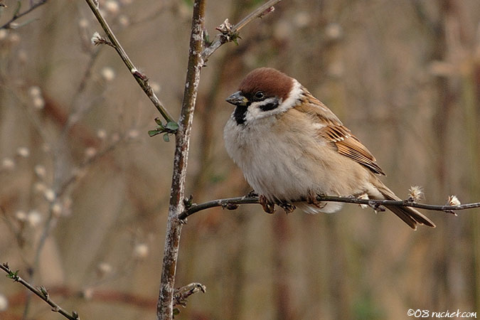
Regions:
M 356 175 L 367 174 L 367 171 L 360 165 L 357 168 L 353 162 L 353 166 L 342 166 L 344 156 L 320 145 L 314 134 L 299 136 L 262 126 L 238 130 L 235 126 L 230 123 L 225 127 L 228 154 L 240 166 L 255 192 L 270 201 L 296 201 L 309 193 L 351 196 L 365 188 L 353 181 L 365 181 L 366 177 Z M 340 208 L 331 203 L 327 207 L 305 211 L 334 212 Z

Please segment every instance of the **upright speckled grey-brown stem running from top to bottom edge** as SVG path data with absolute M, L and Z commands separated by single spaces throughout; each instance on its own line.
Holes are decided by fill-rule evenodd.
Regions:
M 202 44 L 205 1 L 195 0 L 190 36 L 190 52 L 188 56 L 188 70 L 183 92 L 178 131 L 176 132 L 176 149 L 174 157 L 174 173 L 171 181 L 169 218 L 166 225 L 166 239 L 164 261 L 161 272 L 159 300 L 156 305 L 157 319 L 172 319 L 174 298 L 174 284 L 178 245 L 180 242 L 181 223 L 178 215 L 183 211 L 185 178 L 188 161 L 188 146 L 190 143 L 193 111 L 200 80 L 200 71 L 203 65 Z

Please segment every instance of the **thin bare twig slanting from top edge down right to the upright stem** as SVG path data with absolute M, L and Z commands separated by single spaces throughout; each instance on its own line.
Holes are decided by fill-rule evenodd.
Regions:
M 90 9 L 92 10 L 93 14 L 97 18 L 97 21 L 100 23 L 100 26 L 102 26 L 103 31 L 107 34 L 108 38 L 112 42 L 113 47 L 115 50 L 117 50 L 117 53 L 119 54 L 120 58 L 122 58 L 122 61 L 124 62 L 125 65 L 127 65 L 127 68 L 129 69 L 130 73 L 134 76 L 135 80 L 137 80 L 138 84 L 140 87 L 142 87 L 142 90 L 144 90 L 145 94 L 151 102 L 154 104 L 156 107 L 156 110 L 159 110 L 160 114 L 166 122 L 174 122 L 174 118 L 171 116 L 168 110 L 164 107 L 164 105 L 160 102 L 159 98 L 156 97 L 154 90 L 151 88 L 149 84 L 149 78 L 141 73 L 137 67 L 133 64 L 132 60 L 130 60 L 129 56 L 125 52 L 125 50 L 122 48 L 122 45 L 119 43 L 117 40 L 117 37 L 114 35 L 112 29 L 108 25 L 107 21 L 105 18 L 100 14 L 100 10 L 95 6 L 95 3 L 93 0 L 85 0 L 87 1 L 88 6 L 90 6 Z

